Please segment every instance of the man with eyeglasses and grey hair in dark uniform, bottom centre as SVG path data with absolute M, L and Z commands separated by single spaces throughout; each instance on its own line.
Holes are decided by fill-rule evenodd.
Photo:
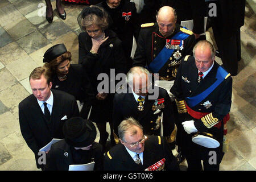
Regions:
M 105 171 L 179 171 L 177 159 L 164 137 L 145 136 L 143 127 L 134 118 L 118 126 L 120 142 L 105 154 Z M 154 165 L 154 168 L 152 167 Z

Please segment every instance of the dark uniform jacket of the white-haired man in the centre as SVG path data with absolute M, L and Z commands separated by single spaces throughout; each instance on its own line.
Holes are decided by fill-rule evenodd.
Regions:
M 155 100 L 150 100 L 148 99 L 148 96 L 146 96 L 143 111 L 138 110 L 138 103 L 135 100 L 133 93 L 130 93 L 131 90 L 129 93 L 115 94 L 113 102 L 113 123 L 115 134 L 118 134 L 117 127 L 124 119 L 133 117 L 143 126 L 144 134 L 160 135 L 160 123 L 157 119 L 161 117 L 163 112 L 163 135 L 170 137 L 174 130 L 174 106 L 172 105 L 170 96 L 165 89 L 158 86 L 155 86 L 154 89 L 158 90 L 158 96 Z M 161 108 L 161 111 L 158 114 L 154 114 L 157 109 L 153 110 L 152 106 L 154 106 L 155 102 L 157 103 L 160 98 L 164 99 L 164 108 Z

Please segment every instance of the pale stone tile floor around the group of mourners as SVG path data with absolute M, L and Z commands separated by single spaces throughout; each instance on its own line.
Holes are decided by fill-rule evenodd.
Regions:
M 66 20 L 60 19 L 55 10 L 53 23 L 49 24 L 43 16 L 43 3 L 0 1 L 0 170 L 38 170 L 34 154 L 20 134 L 18 104 L 31 94 L 28 76 L 35 67 L 43 65 L 43 53 L 54 44 L 64 43 L 72 53 L 73 63 L 78 62 L 80 28 L 76 18 L 84 6 L 65 5 Z M 52 4 L 55 9 L 55 2 Z M 241 28 L 242 60 L 240 73 L 233 77 L 229 151 L 220 166 L 223 171 L 256 169 L 254 7 L 255 1 L 248 1 L 245 26 Z M 210 30 L 207 39 L 214 43 Z M 217 61 L 221 63 L 218 58 Z

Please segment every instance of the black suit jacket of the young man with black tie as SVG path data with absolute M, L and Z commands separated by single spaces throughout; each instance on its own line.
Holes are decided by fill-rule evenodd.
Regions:
M 67 118 L 79 116 L 79 109 L 74 96 L 60 90 L 52 89 L 53 107 L 51 114 L 51 128 L 48 128 L 44 120 L 36 97 L 31 94 L 19 104 L 20 131 L 28 147 L 34 152 L 36 164 L 40 148 L 46 146 L 53 138 L 64 138 L 62 127 Z

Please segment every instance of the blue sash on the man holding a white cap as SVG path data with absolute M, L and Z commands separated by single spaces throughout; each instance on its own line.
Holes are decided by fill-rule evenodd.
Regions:
M 229 75 L 229 73 L 226 72 L 224 68 L 222 68 L 221 66 L 218 67 L 217 73 L 216 73 L 217 80 L 212 85 L 210 85 L 208 89 L 204 90 L 204 92 L 200 93 L 199 95 L 194 96 L 194 97 L 186 97 L 185 101 L 187 102 L 187 105 L 189 107 L 193 107 L 193 106 L 196 106 L 197 104 L 199 104 L 207 96 L 209 96 L 209 94 L 212 93 L 213 90 L 216 89 L 217 86 L 220 85 L 223 80 L 225 80 L 225 77 L 227 75 Z

